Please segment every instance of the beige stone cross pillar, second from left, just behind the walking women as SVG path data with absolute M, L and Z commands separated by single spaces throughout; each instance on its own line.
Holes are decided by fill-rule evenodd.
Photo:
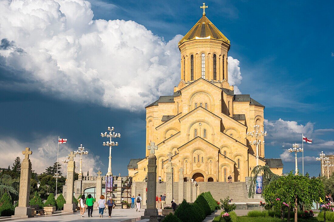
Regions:
M 76 212 L 75 206 L 76 203 L 73 203 L 73 188 L 74 188 L 74 171 L 75 171 L 75 162 L 73 157 L 75 153 L 71 152 L 69 155 L 69 160 L 67 164 L 67 187 L 66 187 L 66 203 L 64 204 L 63 212 Z

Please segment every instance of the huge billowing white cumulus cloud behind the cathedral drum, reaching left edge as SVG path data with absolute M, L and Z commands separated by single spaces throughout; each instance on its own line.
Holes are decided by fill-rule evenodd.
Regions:
M 132 111 L 172 94 L 181 35 L 165 42 L 134 21 L 93 16 L 85 0 L 0 1 L 0 39 L 11 44 L 0 47 L 1 87 Z M 239 61 L 228 61 L 238 85 Z

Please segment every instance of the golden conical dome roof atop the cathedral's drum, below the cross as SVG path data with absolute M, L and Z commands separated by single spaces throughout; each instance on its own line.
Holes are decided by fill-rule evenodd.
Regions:
M 202 18 L 179 41 L 179 46 L 186 41 L 194 39 L 215 39 L 230 44 L 230 41 L 210 22 L 204 13 Z

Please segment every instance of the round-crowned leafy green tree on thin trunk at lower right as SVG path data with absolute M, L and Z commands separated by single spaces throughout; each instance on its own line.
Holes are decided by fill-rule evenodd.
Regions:
M 309 178 L 308 174 L 281 176 L 263 189 L 263 197 L 267 203 L 275 203 L 276 199 L 294 206 L 295 222 L 297 222 L 298 203 L 311 208 L 313 202 L 320 202 L 324 197 L 324 188 L 320 179 Z

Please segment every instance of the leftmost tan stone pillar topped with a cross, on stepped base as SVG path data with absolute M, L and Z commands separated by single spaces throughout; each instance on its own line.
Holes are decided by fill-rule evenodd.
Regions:
M 19 206 L 15 207 L 15 214 L 12 217 L 33 217 L 31 215 L 31 208 L 29 207 L 31 177 L 31 162 L 29 155 L 32 154 L 32 152 L 27 147 L 22 151 L 22 154 L 24 154 L 24 159 L 21 164 Z

